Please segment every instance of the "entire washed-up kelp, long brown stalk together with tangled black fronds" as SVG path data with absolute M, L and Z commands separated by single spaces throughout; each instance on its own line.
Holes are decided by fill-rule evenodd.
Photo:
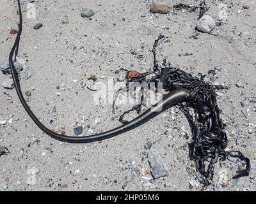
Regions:
M 185 113 L 188 119 L 193 134 L 192 142 L 189 145 L 189 157 L 195 161 L 196 168 L 202 175 L 204 175 L 205 186 L 210 184 L 209 180 L 212 179 L 214 163 L 216 163 L 218 159 L 224 160 L 226 157 L 231 156 L 237 157 L 246 163 L 245 170 L 237 171 L 238 174 L 234 178 L 243 177 L 249 174 L 250 160 L 247 157 L 244 157 L 241 152 L 225 151 L 225 147 L 227 147 L 227 136 L 225 134 L 223 123 L 220 119 L 220 113 L 216 104 L 216 96 L 214 92 L 214 89 L 225 89 L 225 87 L 207 84 L 204 82 L 203 75 L 200 75 L 200 78 L 193 77 L 191 74 L 186 73 L 185 71 L 172 68 L 170 64 L 166 65 L 166 61 L 163 62 L 163 65 L 160 69 L 156 60 L 156 47 L 159 43 L 159 40 L 163 39 L 164 36 L 159 36 L 159 38 L 154 43 L 152 50 L 154 55 L 153 71 L 150 73 L 142 74 L 136 73 L 135 71 L 133 73 L 131 73 L 131 71 L 127 73 L 127 84 L 129 84 L 129 82 L 138 82 L 138 84 L 144 82 L 148 82 L 148 84 L 150 82 L 155 82 L 156 84 L 159 82 L 163 83 L 164 91 L 169 92 L 169 94 L 163 98 L 163 101 L 152 106 L 152 108 L 143 112 L 141 115 L 129 122 L 124 120 L 123 118 L 126 113 L 129 113 L 132 110 L 136 110 L 138 113 L 140 112 L 141 105 L 143 105 L 142 97 L 140 101 L 141 103 L 139 105 L 134 106 L 132 110 L 129 110 L 121 115 L 120 122 L 124 123 L 124 125 L 97 135 L 81 137 L 66 136 L 54 133 L 50 129 L 46 128 L 44 124 L 42 124 L 40 120 L 37 119 L 35 114 L 30 110 L 28 104 L 26 103 L 20 89 L 17 71 L 13 65 L 13 55 L 15 55 L 15 60 L 18 54 L 20 34 L 22 33 L 22 13 L 20 9 L 20 1 L 17 0 L 17 3 L 19 6 L 20 18 L 19 33 L 17 34 L 17 38 L 15 39 L 15 43 L 9 56 L 10 71 L 12 73 L 13 82 L 20 102 L 24 106 L 31 119 L 40 129 L 42 129 L 42 131 L 44 131 L 44 133 L 56 140 L 63 142 L 95 142 L 97 140 L 111 138 L 113 136 L 125 133 L 131 129 L 137 128 L 167 108 L 179 104 L 181 106 L 181 110 Z M 153 75 L 153 77 L 147 79 L 148 75 Z M 182 102 L 184 103 L 181 104 Z M 162 107 L 161 112 L 156 112 L 155 110 L 159 110 L 159 107 Z M 195 111 L 195 119 L 193 119 L 192 115 L 189 113 L 190 108 L 193 108 Z

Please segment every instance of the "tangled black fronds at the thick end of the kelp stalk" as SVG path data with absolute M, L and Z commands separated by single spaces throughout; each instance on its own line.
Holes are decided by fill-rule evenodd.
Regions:
M 127 91 L 129 82 L 136 82 L 138 86 L 141 83 L 155 82 L 163 83 L 164 91 L 170 92 L 175 89 L 185 88 L 189 89 L 191 93 L 185 101 L 180 104 L 180 109 L 185 113 L 192 133 L 192 142 L 189 144 L 189 158 L 196 163 L 196 169 L 204 176 L 204 185 L 211 184 L 214 175 L 214 164 L 217 161 L 225 161 L 228 157 L 237 157 L 246 163 L 246 168 L 237 171 L 234 179 L 239 177 L 248 176 L 250 172 L 250 159 L 243 156 L 239 151 L 226 151 L 228 145 L 225 127 L 220 119 L 220 110 L 216 103 L 216 89 L 228 89 L 221 85 L 211 85 L 204 81 L 205 75 L 198 74 L 199 77 L 194 77 L 190 73 L 183 71 L 179 68 L 173 68 L 170 63 L 166 64 L 166 60 L 159 66 L 156 59 L 156 47 L 159 41 L 164 38 L 160 35 L 154 43 L 153 56 L 154 68 L 152 72 L 138 73 L 132 75 L 131 71 L 127 73 Z M 134 72 L 134 71 L 133 71 Z M 152 77 L 147 78 L 148 75 Z M 127 123 L 124 120 L 124 115 L 136 110 L 137 113 L 141 112 L 143 105 L 143 89 L 141 89 L 141 100 L 138 105 L 127 110 L 120 116 L 120 122 Z M 189 113 L 193 110 L 195 117 Z

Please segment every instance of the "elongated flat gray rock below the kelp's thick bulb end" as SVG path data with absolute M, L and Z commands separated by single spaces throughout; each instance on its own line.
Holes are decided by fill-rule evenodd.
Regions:
M 150 149 L 148 152 L 148 162 L 154 179 L 168 176 L 168 169 L 164 164 L 163 158 L 156 149 Z

